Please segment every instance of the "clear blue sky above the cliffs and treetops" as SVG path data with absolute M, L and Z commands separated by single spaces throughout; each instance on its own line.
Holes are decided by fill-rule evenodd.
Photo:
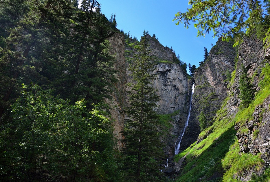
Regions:
M 175 25 L 172 21 L 175 14 L 188 8 L 188 0 L 99 0 L 101 12 L 107 18 L 115 13 L 117 28 L 130 31 L 132 37 L 140 40 L 144 30 L 152 36 L 156 35 L 164 46 L 171 47 L 187 64 L 199 66 L 203 61 L 204 47 L 210 51 L 216 44 L 217 37 L 213 33 L 205 37 L 197 37 L 193 25 L 189 29 L 183 24 Z

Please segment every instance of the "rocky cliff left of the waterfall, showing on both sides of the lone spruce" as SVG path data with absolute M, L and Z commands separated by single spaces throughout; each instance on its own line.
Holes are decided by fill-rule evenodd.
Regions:
M 170 124 L 172 127 L 168 129 L 161 138 L 166 143 L 164 151 L 167 155 L 174 155 L 175 141 L 181 129 L 184 127 L 186 117 L 188 115 L 189 98 L 191 86 L 188 84 L 187 74 L 181 66 L 174 63 L 176 56 L 168 47 L 164 47 L 158 40 L 147 35 L 149 39 L 150 49 L 153 51 L 151 55 L 157 61 L 153 74 L 156 79 L 153 81 L 153 88 L 157 89 L 157 95 L 160 101 L 157 103 L 158 114 L 177 114 L 172 116 Z M 110 101 L 111 114 L 114 120 L 114 133 L 119 140 L 122 138 L 121 130 L 124 127 L 124 107 L 128 104 L 128 95 L 126 91 L 131 90 L 127 83 L 131 81 L 131 73 L 128 70 L 129 64 L 132 63 L 131 57 L 137 53 L 134 48 L 135 41 L 131 40 L 131 44 L 125 44 L 124 35 L 115 33 L 109 41 L 112 45 L 112 53 L 116 54 L 115 69 L 117 70 L 118 82 L 115 85 L 112 94 L 113 101 Z M 108 101 L 109 102 L 109 101 Z M 161 129 L 162 130 L 162 129 Z M 118 142 L 119 146 L 122 146 Z

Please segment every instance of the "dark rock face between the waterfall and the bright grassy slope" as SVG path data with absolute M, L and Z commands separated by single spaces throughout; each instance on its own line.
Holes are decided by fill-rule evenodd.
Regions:
M 183 136 L 181 148 L 185 149 L 196 141 L 200 133 L 199 118 L 201 111 L 211 121 L 227 96 L 225 81 L 227 69 L 234 70 L 236 49 L 232 42 L 223 42 L 218 39 L 210 50 L 207 60 L 195 70 L 195 90 L 192 100 L 189 126 Z

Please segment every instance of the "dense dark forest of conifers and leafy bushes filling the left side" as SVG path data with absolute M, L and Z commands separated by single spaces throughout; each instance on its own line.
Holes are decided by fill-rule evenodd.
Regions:
M 99 3 L 3 1 L 0 22 L 1 181 L 118 181 Z

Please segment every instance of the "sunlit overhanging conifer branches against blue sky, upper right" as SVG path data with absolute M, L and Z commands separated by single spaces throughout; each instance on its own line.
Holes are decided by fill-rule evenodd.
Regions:
M 266 6 L 258 0 L 189 0 L 188 3 L 190 8 L 186 12 L 175 14 L 176 24 L 184 23 L 189 28 L 190 22 L 194 22 L 198 36 L 213 31 L 214 36 L 223 40 L 239 38 L 247 28 L 261 22 L 266 13 Z M 269 1 L 264 3 L 269 4 Z

